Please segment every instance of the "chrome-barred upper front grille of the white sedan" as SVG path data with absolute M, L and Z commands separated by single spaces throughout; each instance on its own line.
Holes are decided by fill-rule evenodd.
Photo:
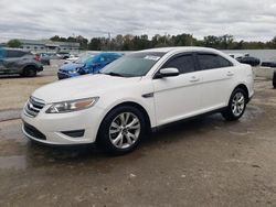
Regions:
M 44 106 L 45 102 L 43 100 L 30 97 L 24 108 L 25 115 L 29 117 L 36 117 Z

